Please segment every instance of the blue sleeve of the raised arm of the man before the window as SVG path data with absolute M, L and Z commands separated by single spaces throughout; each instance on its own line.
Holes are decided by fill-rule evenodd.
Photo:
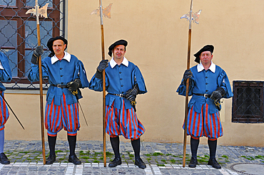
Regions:
M 41 69 L 42 69 L 42 78 L 48 78 L 46 63 L 41 61 Z M 29 70 L 28 79 L 31 82 L 39 81 L 39 65 L 31 64 L 31 69 Z

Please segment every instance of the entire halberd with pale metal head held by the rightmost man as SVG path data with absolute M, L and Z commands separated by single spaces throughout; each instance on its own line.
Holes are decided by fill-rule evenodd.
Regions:
M 188 56 L 187 56 L 187 69 L 190 69 L 190 57 L 191 57 L 191 22 L 199 23 L 199 16 L 202 10 L 193 14 L 193 0 L 191 0 L 190 13 L 181 16 L 189 21 L 188 30 Z M 183 167 L 186 166 L 186 139 L 187 139 L 187 117 L 188 117 L 188 95 L 189 95 L 189 78 L 186 81 L 186 106 L 185 106 L 185 117 L 184 117 L 184 139 L 183 139 Z

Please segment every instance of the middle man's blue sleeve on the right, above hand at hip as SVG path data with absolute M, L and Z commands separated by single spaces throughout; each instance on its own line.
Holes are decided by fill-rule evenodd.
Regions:
M 141 74 L 141 70 L 139 70 L 138 66 L 136 66 L 136 68 L 133 70 L 132 76 L 133 76 L 132 77 L 133 85 L 135 85 L 136 83 L 138 84 L 138 89 L 139 89 L 138 94 L 144 94 L 148 92 L 146 85 L 145 85 L 144 78 Z

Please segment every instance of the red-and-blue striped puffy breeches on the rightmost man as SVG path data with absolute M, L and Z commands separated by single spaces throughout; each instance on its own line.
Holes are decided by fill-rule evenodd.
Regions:
M 187 134 L 191 135 L 193 139 L 205 136 L 209 140 L 215 140 L 223 136 L 219 112 L 209 114 L 207 103 L 202 106 L 201 113 L 195 112 L 193 107 L 191 107 L 188 112 Z

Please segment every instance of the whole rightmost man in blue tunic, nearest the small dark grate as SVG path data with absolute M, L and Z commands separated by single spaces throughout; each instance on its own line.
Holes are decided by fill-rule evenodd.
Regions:
M 223 136 L 220 122 L 220 99 L 233 97 L 228 75 L 218 65 L 212 62 L 212 45 L 204 46 L 194 56 L 196 62 L 190 70 L 183 75 L 181 85 L 178 87 L 179 95 L 186 95 L 186 80 L 190 79 L 188 95 L 193 95 L 188 103 L 187 134 L 191 135 L 191 161 L 189 167 L 195 168 L 197 164 L 197 149 L 200 137 L 208 137 L 210 159 L 208 165 L 221 169 L 215 159 L 217 139 Z M 183 124 L 184 128 L 184 124 Z

